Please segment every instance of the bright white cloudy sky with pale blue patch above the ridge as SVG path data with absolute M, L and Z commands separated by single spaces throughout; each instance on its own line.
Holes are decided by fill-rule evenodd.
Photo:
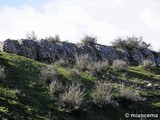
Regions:
M 160 0 L 0 0 L 0 40 L 58 34 L 77 43 L 85 35 L 110 45 L 118 37 L 142 36 L 160 49 Z

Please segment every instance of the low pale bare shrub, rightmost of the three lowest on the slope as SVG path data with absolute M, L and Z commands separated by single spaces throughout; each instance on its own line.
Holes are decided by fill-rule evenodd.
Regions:
M 120 87 L 120 96 L 132 101 L 142 100 L 142 97 L 139 94 L 139 90 L 134 90 L 132 86 L 125 87 L 123 84 L 121 84 Z

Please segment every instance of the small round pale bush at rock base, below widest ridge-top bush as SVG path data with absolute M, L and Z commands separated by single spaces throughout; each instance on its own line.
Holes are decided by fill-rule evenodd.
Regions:
M 125 70 L 127 67 L 127 63 L 124 60 L 114 60 L 113 61 L 113 68 L 116 69 L 117 71 L 122 71 Z

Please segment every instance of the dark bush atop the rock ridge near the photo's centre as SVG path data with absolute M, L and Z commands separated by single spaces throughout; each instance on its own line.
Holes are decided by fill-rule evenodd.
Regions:
M 90 46 L 94 46 L 95 44 L 97 44 L 97 37 L 93 37 L 93 36 L 88 36 L 86 35 L 82 40 L 81 43 L 83 45 L 90 45 Z

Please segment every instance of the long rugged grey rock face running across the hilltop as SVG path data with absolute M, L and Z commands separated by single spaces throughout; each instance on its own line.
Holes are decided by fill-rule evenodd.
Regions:
M 134 65 L 142 64 L 144 59 L 160 66 L 160 55 L 151 50 L 115 49 L 110 46 L 96 44 L 95 46 L 75 45 L 68 42 L 51 43 L 47 40 L 10 40 L 0 43 L 0 50 L 29 57 L 35 60 L 54 62 L 60 58 L 74 60 L 76 54 L 87 54 L 93 60 L 122 59 Z

